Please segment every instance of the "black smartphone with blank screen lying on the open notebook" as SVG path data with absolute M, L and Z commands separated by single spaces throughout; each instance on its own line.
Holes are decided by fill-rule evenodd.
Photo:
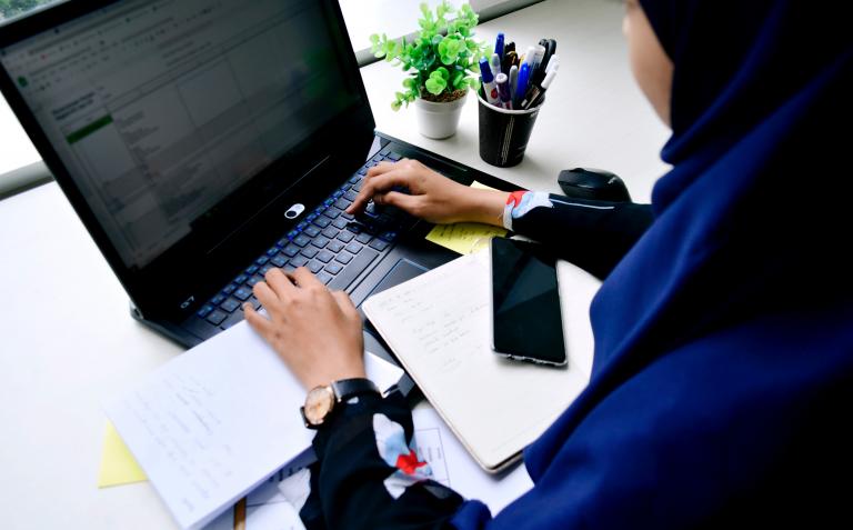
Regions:
M 515 360 L 565 366 L 556 258 L 544 247 L 491 240 L 492 350 Z

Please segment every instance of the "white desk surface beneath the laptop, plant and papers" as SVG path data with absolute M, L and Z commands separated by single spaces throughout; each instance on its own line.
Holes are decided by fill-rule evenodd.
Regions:
M 560 169 L 606 168 L 649 200 L 665 171 L 658 151 L 668 133 L 631 79 L 621 12 L 605 0 L 551 0 L 479 28 L 489 41 L 498 31 L 520 44 L 559 41 L 560 76 L 516 168 L 480 160 L 471 97 L 455 137 L 420 137 L 413 112 L 390 109 L 402 73 L 384 62 L 362 72 L 378 128 L 529 188 L 559 191 Z M 99 402 L 180 348 L 131 320 L 127 296 L 54 183 L 0 202 L 0 256 L 3 527 L 173 528 L 148 483 L 98 490 L 96 479 Z

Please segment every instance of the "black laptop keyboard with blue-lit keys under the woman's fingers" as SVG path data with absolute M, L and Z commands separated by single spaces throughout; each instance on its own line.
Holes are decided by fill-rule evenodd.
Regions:
M 383 149 L 369 160 L 293 230 L 204 303 L 193 317 L 193 327 L 203 324 L 213 333 L 217 328 L 228 329 L 240 322 L 244 302 L 260 308 L 252 287 L 273 267 L 285 271 L 308 267 L 330 289 L 347 289 L 414 223 L 414 218 L 402 210 L 377 207 L 373 202 L 358 217 L 344 211 L 361 190 L 368 169 L 383 160 L 398 161 L 400 158 L 399 153 Z

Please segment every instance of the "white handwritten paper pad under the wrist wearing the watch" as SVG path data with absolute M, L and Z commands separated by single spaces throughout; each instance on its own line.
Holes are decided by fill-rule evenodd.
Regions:
M 402 371 L 365 356 L 380 388 Z M 182 528 L 200 528 L 310 444 L 305 390 L 241 322 L 106 404 L 107 416 Z

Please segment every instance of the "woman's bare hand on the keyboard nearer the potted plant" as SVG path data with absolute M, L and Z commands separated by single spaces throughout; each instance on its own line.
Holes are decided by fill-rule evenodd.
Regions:
M 395 191 L 399 187 L 409 193 Z M 462 186 L 417 160 L 402 159 L 370 168 L 347 212 L 360 212 L 373 199 L 377 204 L 394 206 L 430 222 L 476 221 L 501 227 L 508 194 Z

